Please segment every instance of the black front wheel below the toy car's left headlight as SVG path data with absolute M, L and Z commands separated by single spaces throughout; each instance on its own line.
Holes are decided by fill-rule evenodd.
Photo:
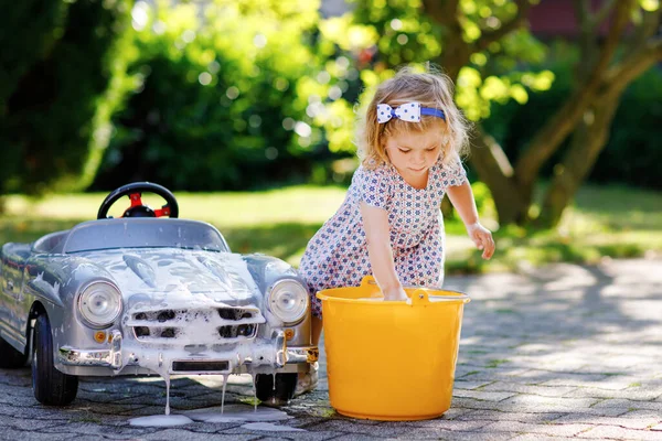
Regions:
M 32 359 L 32 388 L 42 405 L 66 406 L 76 398 L 78 377 L 57 370 L 53 364 L 53 334 L 46 314 L 36 318 Z

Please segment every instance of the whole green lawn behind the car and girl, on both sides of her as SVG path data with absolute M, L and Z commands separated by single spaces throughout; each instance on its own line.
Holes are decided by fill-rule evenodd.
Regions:
M 30 200 L 6 197 L 0 216 L 0 243 L 30 241 L 96 217 L 105 194 L 52 195 Z M 250 193 L 178 193 L 180 216 L 209 222 L 234 251 L 265 252 L 298 265 L 308 239 L 344 198 L 339 187 L 295 186 Z M 158 196 L 143 197 L 150 206 Z M 111 215 L 128 206 L 120 201 Z M 562 225 L 552 232 L 495 229 L 498 251 L 490 262 L 480 259 L 457 220 L 446 224 L 448 272 L 516 270 L 549 261 L 596 262 L 605 257 L 662 252 L 662 194 L 627 187 L 585 186 Z

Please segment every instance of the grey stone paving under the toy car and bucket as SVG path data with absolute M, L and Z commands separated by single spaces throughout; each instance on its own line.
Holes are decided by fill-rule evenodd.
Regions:
M 1 440 L 662 440 L 662 260 L 554 265 L 521 275 L 448 278 L 465 306 L 452 406 L 413 422 L 353 420 L 329 405 L 324 358 L 318 390 L 276 422 L 138 428 L 129 419 L 164 410 L 158 377 L 84 378 L 66 408 L 39 405 L 30 370 L 0 369 Z M 415 375 L 404 378 L 415 381 Z M 173 380 L 173 413 L 216 407 L 216 377 Z M 394 385 L 394 387 L 396 387 Z M 226 402 L 246 400 L 234 377 Z

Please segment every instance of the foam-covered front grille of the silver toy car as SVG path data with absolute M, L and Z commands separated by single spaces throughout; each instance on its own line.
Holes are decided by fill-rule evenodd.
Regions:
M 132 311 L 127 323 L 140 342 L 175 341 L 190 336 L 186 330 L 207 341 L 196 343 L 232 343 L 255 338 L 265 319 L 257 308 L 216 308 L 205 310 L 164 309 Z M 202 337 L 205 340 L 204 337 Z

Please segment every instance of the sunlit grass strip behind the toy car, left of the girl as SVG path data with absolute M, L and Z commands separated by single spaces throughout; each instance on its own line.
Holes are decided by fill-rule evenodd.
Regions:
M 264 252 L 298 265 L 308 240 L 340 206 L 345 190 L 293 186 L 246 193 L 178 193 L 180 217 L 209 222 L 236 252 Z M 94 219 L 106 194 L 52 195 L 41 201 L 8 196 L 0 217 L 0 240 L 31 241 L 57 229 Z M 159 207 L 159 196 L 143 203 Z M 128 200 L 114 204 L 119 217 Z

